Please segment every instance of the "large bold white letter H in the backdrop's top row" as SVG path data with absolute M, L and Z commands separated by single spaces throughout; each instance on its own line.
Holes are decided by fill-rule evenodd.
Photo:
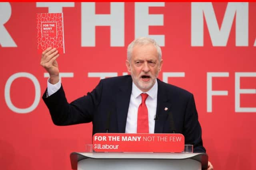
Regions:
M 124 46 L 124 2 L 111 2 L 110 14 L 95 14 L 95 2 L 81 3 L 81 46 L 95 47 L 95 27 L 110 26 L 110 46 Z

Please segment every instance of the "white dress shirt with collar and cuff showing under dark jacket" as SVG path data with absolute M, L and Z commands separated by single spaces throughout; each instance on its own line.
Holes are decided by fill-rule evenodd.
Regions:
M 47 81 L 47 93 L 48 96 L 51 96 L 55 92 L 57 92 L 61 87 L 61 82 L 59 81 L 56 84 L 51 84 L 49 79 Z M 146 92 L 148 94 L 148 98 L 146 99 L 146 106 L 148 108 L 148 127 L 149 133 L 154 133 L 155 129 L 155 120 L 154 117 L 156 115 L 156 104 L 157 104 L 157 90 L 158 85 L 157 81 L 154 86 Z M 132 94 L 130 97 L 130 104 L 128 108 L 128 115 L 126 119 L 126 127 L 125 133 L 137 133 L 137 115 L 138 108 L 141 104 L 141 96 L 143 93 L 138 87 L 132 82 Z

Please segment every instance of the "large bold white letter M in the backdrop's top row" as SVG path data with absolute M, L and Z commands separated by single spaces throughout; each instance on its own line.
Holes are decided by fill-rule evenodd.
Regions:
M 248 46 L 248 3 L 229 2 L 218 26 L 211 2 L 191 3 L 191 46 L 204 46 L 204 17 L 213 46 L 226 46 L 236 14 L 236 46 Z

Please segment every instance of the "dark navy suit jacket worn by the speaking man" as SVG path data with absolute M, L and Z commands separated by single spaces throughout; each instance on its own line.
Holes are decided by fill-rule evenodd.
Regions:
M 158 82 L 157 120 L 155 133 L 175 133 L 185 136 L 186 144 L 194 145 L 194 152 L 206 152 L 202 146 L 201 127 L 193 95 L 181 88 Z M 43 100 L 55 125 L 74 125 L 92 121 L 93 134 L 125 133 L 126 118 L 132 92 L 132 78 L 120 76 L 100 80 L 96 88 L 86 96 L 68 104 L 63 87 Z M 165 111 L 165 107 L 168 108 Z M 170 121 L 170 112 L 173 123 Z M 108 125 L 109 124 L 109 125 Z

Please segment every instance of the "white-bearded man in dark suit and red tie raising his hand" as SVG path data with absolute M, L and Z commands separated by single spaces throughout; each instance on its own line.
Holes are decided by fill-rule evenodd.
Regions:
M 56 49 L 48 48 L 41 59 L 50 74 L 43 100 L 54 124 L 92 121 L 93 134 L 140 133 L 142 121 L 147 133 L 182 133 L 185 143 L 194 145 L 194 152 L 206 152 L 193 95 L 157 79 L 163 60 L 154 40 L 139 38 L 128 46 L 126 66 L 131 75 L 103 79 L 92 92 L 70 104 L 59 81 L 58 56 Z M 146 118 L 138 111 L 143 101 Z M 213 169 L 210 162 L 208 169 Z

